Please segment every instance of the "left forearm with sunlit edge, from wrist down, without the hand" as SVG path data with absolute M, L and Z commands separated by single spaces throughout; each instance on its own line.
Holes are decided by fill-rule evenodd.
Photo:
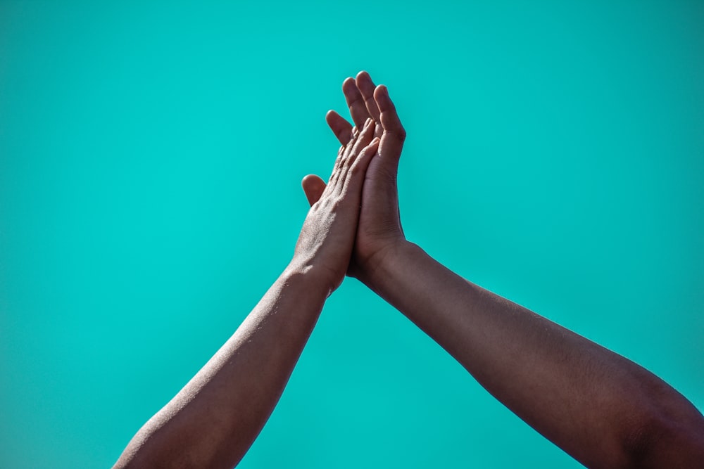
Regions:
M 318 320 L 329 290 L 316 274 L 284 271 L 116 467 L 232 468 L 270 416 Z

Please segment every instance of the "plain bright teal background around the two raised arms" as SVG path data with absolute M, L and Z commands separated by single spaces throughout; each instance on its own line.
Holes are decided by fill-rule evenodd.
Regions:
M 290 259 L 368 70 L 406 234 L 704 406 L 704 3 L 0 0 L 0 466 L 109 467 Z M 345 114 L 346 115 L 346 114 Z M 241 468 L 579 467 L 354 279 Z

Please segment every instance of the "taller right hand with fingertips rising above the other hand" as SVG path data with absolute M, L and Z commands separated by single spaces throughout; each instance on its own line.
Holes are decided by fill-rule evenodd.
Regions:
M 344 145 L 353 139 L 356 129 L 369 117 L 377 122 L 375 135 L 381 137 L 379 154 L 370 162 L 362 188 L 362 207 L 348 271 L 349 275 L 363 280 L 366 272 L 382 262 L 389 248 L 406 240 L 398 214 L 396 186 L 398 159 L 406 131 L 398 120 L 386 86 L 375 86 L 367 72 L 360 72 L 357 79 L 346 79 L 342 91 L 355 127 L 332 110 L 326 116 L 340 143 Z M 306 176 L 303 181 L 303 190 L 311 204 L 324 189 L 325 183 L 318 176 Z

